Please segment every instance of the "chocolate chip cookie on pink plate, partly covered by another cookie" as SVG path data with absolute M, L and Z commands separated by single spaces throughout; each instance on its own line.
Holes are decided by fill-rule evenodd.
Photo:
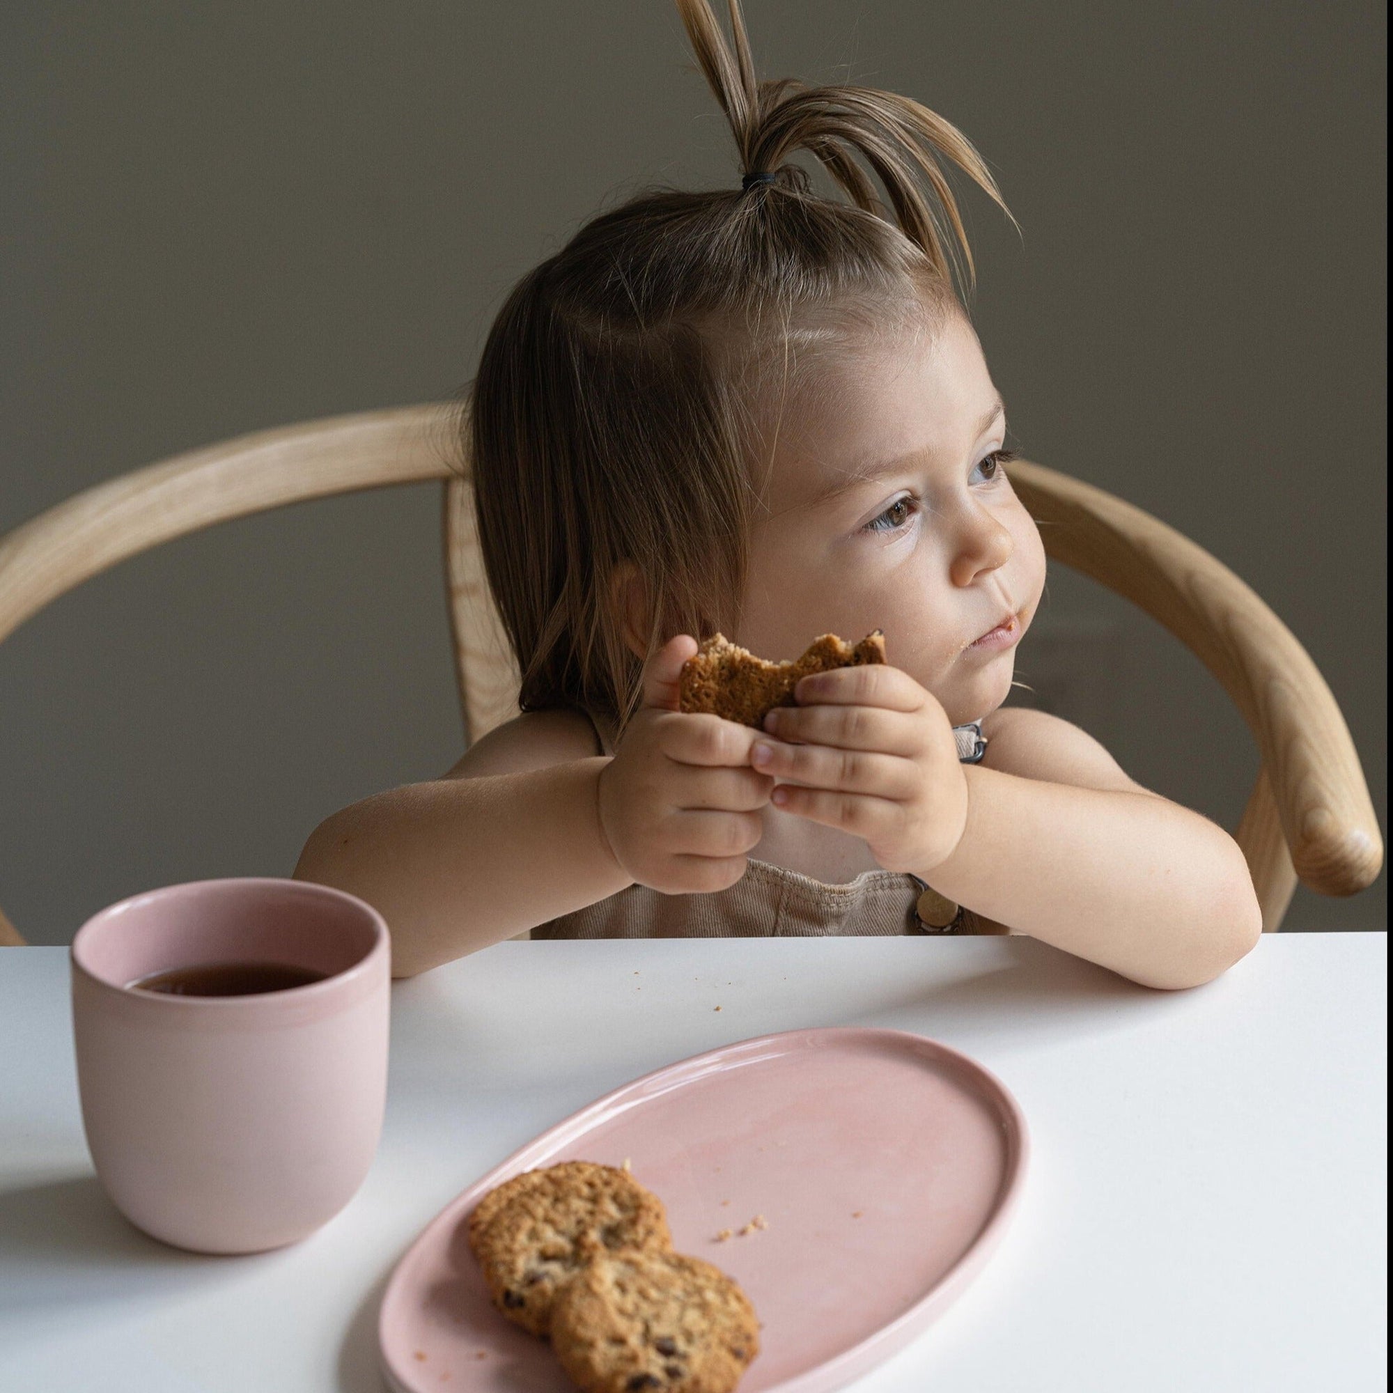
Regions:
M 627 1172 L 588 1160 L 504 1181 L 475 1206 L 468 1236 L 493 1304 L 543 1336 L 557 1294 L 596 1256 L 673 1245 L 662 1201 Z

